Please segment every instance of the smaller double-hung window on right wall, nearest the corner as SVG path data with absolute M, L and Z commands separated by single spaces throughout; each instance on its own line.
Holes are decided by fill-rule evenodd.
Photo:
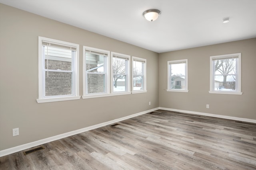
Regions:
M 168 92 L 188 92 L 188 59 L 168 61 Z

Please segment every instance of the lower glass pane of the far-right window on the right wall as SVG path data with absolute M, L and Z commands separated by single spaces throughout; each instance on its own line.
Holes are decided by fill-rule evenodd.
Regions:
M 235 75 L 214 76 L 214 90 L 236 91 L 236 76 Z

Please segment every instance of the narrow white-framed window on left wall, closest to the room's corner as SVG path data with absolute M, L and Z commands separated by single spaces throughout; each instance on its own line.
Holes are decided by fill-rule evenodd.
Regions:
M 132 93 L 146 92 L 146 59 L 132 57 Z

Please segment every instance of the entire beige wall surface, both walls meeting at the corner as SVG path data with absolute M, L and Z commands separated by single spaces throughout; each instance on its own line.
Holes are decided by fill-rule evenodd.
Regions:
M 147 59 L 148 92 L 38 104 L 38 36 L 80 44 L 80 95 L 83 45 Z M 255 47 L 256 38 L 158 55 L 0 4 L 0 150 L 157 107 L 256 119 Z M 243 94 L 209 94 L 210 56 L 229 53 L 242 53 Z M 178 59 L 188 59 L 188 93 L 166 92 L 167 61 Z

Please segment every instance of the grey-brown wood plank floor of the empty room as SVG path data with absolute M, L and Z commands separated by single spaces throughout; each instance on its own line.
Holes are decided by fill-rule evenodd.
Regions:
M 164 110 L 41 146 L 0 169 L 256 170 L 255 123 Z

